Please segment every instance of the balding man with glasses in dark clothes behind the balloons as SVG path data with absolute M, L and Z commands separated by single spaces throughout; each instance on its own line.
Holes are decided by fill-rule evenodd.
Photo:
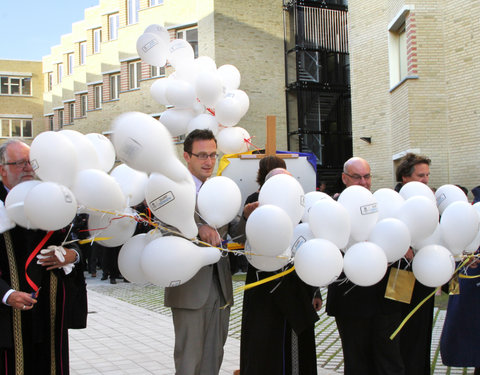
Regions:
M 346 161 L 342 181 L 345 186 L 360 185 L 370 190 L 370 165 L 362 158 Z M 339 280 L 345 274 L 339 277 Z M 401 322 L 399 302 L 384 297 L 386 276 L 377 284 L 362 287 L 350 281 L 328 287 L 327 314 L 335 317 L 342 340 L 346 375 L 407 375 L 399 339 L 390 335 Z

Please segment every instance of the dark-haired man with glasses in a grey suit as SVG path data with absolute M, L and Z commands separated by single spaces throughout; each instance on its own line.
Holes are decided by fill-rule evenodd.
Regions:
M 217 141 L 210 130 L 194 130 L 183 144 L 183 156 L 193 176 L 197 193 L 212 175 L 217 159 Z M 227 233 L 244 233 L 238 217 L 222 228 L 212 228 L 195 215 L 200 240 L 220 246 Z M 228 257 L 201 268 L 185 284 L 165 288 L 165 306 L 172 309 L 175 328 L 177 375 L 218 374 L 227 339 L 230 306 L 233 305 L 232 275 Z

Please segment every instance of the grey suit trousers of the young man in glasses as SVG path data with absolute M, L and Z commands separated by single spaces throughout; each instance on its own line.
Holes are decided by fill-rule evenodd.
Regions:
M 172 307 L 176 375 L 216 375 L 223 360 L 230 306 L 225 307 L 217 274 L 212 275 L 207 302 L 200 309 Z

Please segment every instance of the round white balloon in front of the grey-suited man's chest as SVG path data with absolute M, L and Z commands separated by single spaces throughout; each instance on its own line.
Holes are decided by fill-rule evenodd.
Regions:
M 200 216 L 214 228 L 230 223 L 242 205 L 242 193 L 230 178 L 216 176 L 205 181 L 197 196 Z

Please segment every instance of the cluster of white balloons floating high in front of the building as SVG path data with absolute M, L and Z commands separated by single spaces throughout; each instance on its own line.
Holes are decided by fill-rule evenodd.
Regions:
M 217 68 L 207 56 L 194 57 L 190 43 L 169 39 L 160 25 L 148 26 L 137 39 L 137 52 L 150 65 L 175 69 L 168 78 L 151 87 L 152 98 L 171 106 L 160 116 L 173 137 L 194 129 L 210 129 L 225 154 L 248 151 L 248 132 L 237 125 L 250 106 L 248 95 L 239 89 L 240 72 L 230 64 Z

